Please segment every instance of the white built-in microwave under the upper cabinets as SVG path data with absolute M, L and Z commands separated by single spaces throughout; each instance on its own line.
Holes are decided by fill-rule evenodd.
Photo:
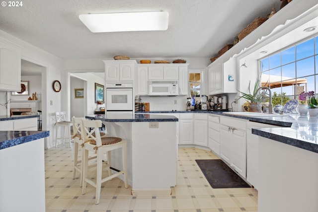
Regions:
M 148 81 L 148 95 L 174 96 L 179 95 L 178 81 Z

